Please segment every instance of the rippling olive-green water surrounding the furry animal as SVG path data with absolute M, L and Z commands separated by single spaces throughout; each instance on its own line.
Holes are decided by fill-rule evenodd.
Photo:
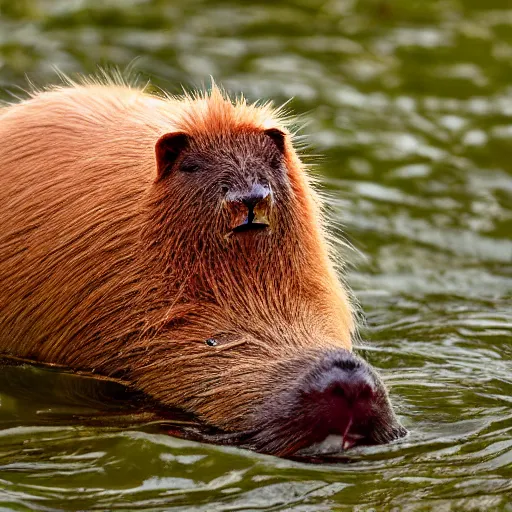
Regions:
M 510 0 L 0 0 L 0 13 L 4 98 L 25 75 L 55 82 L 52 66 L 136 58 L 171 92 L 213 75 L 251 99 L 294 98 L 338 238 L 355 247 L 341 249 L 363 354 L 410 430 L 307 465 L 52 423 L 7 387 L 1 511 L 512 511 Z

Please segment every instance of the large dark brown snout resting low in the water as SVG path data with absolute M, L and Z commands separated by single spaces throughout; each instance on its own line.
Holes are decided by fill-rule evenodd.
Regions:
M 283 424 L 283 435 L 291 435 L 295 451 L 303 454 L 318 453 L 333 440 L 338 451 L 358 444 L 387 443 L 407 434 L 375 370 L 348 350 L 330 350 L 303 368 L 274 402 L 270 432 L 279 434 L 277 441 L 269 436 L 267 449 L 289 450 L 278 444 Z

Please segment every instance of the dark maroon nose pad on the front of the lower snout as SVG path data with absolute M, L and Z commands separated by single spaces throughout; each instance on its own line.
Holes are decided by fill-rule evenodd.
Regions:
M 344 350 L 321 360 L 301 385 L 303 406 L 333 433 L 343 433 L 349 422 L 369 417 L 377 392 L 370 367 Z

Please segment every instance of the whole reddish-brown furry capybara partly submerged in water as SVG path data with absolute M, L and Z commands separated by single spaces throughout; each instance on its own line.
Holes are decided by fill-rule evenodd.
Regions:
M 214 84 L 86 80 L 3 107 L 0 353 L 123 379 L 265 453 L 405 435 L 352 353 L 292 138 Z

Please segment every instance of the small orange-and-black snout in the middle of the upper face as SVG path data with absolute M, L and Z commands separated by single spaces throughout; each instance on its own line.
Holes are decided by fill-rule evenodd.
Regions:
M 272 190 L 268 185 L 254 183 L 247 190 L 228 192 L 226 207 L 233 233 L 265 229 L 269 226 Z

